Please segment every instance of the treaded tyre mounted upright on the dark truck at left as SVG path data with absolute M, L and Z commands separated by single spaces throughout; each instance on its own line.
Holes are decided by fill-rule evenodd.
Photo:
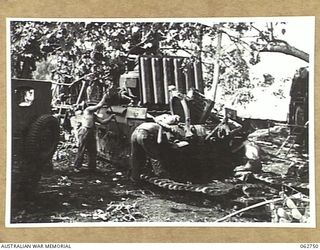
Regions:
M 31 124 L 25 141 L 26 158 L 46 163 L 51 160 L 59 141 L 59 122 L 52 115 L 42 115 Z

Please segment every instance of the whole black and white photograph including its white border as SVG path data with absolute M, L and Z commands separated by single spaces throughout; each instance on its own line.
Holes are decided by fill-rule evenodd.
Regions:
M 8 18 L 7 227 L 315 227 L 315 18 Z

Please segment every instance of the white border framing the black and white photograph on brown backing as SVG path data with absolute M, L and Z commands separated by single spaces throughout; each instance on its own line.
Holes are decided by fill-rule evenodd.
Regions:
M 232 222 L 83 222 L 83 223 L 11 223 L 11 164 L 12 164 L 12 121 L 11 121 L 11 53 L 10 53 L 10 23 L 12 21 L 46 21 L 46 22 L 260 22 L 299 20 L 306 22 L 313 30 L 310 36 L 309 62 L 309 186 L 310 186 L 310 223 L 232 223 Z M 302 38 L 305 39 L 305 38 Z M 6 75 L 7 75 L 7 145 L 6 145 L 6 211 L 5 226 L 9 228 L 34 227 L 273 227 L 273 228 L 315 228 L 316 227 L 316 190 L 315 190 L 315 17 L 314 16 L 282 16 L 282 17 L 208 17 L 208 18 L 7 18 L 6 19 Z

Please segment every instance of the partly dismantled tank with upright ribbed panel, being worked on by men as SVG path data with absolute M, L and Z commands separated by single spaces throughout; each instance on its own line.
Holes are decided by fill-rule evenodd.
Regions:
M 156 165 L 160 165 L 174 180 L 197 183 L 232 175 L 233 168 L 243 160 L 239 155 L 247 136 L 244 126 L 235 110 L 226 110 L 224 116 L 213 112 L 213 101 L 203 94 L 201 62 L 185 63 L 186 60 L 140 56 L 134 70 L 120 76 L 120 89 L 132 96 L 134 102 L 99 110 L 98 115 L 103 118 L 116 114 L 109 124 L 97 124 L 100 157 L 119 167 L 128 167 L 133 131 L 142 123 L 156 122 L 160 115 L 178 115 L 179 123 L 161 124 L 178 133 L 164 131 L 160 135 L 170 161 L 150 158 L 151 169 L 156 172 Z M 235 128 L 238 132 L 230 133 Z

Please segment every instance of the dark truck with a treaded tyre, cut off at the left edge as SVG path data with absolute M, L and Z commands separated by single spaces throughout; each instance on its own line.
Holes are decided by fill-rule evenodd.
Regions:
M 11 79 L 12 196 L 33 197 L 59 141 L 51 82 Z

